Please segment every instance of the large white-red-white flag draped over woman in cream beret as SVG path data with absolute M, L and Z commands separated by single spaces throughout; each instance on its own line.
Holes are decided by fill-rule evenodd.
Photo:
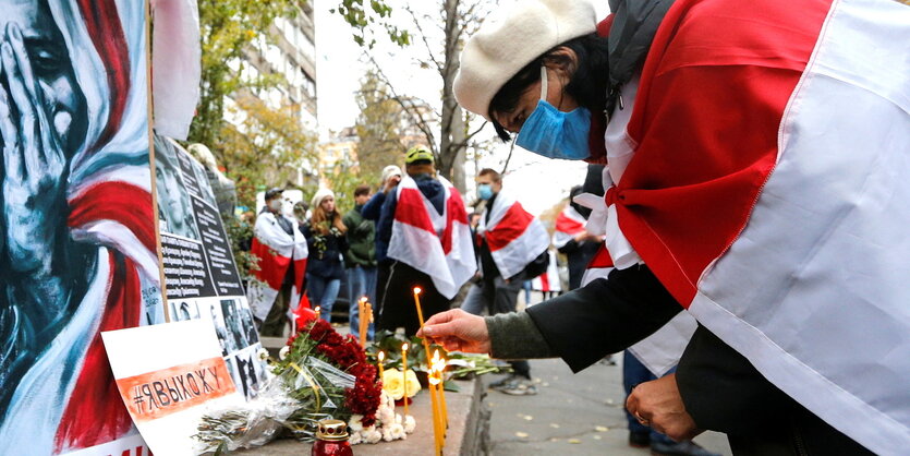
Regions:
M 907 43 L 897 1 L 678 0 L 610 196 L 700 323 L 878 454 L 910 444 Z

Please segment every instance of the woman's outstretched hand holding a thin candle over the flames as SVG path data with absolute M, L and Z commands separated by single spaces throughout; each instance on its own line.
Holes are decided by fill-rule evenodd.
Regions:
M 433 315 L 417 332 L 448 351 L 489 353 L 489 333 L 482 316 L 454 309 Z

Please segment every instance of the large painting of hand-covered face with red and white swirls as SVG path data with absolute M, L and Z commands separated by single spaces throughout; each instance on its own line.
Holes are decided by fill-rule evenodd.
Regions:
M 0 454 L 129 440 L 98 333 L 161 309 L 145 5 L 0 11 Z

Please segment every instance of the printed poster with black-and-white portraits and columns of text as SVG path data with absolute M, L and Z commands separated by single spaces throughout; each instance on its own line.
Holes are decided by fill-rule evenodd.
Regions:
M 169 321 L 210 321 L 238 389 L 254 398 L 266 364 L 205 168 L 156 134 L 155 180 Z

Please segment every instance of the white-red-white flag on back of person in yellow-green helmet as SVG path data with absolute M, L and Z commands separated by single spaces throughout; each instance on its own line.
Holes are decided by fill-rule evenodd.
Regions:
M 437 179 L 446 189 L 442 214 L 410 176 L 398 184 L 388 256 L 428 275 L 436 290 L 452 299 L 477 271 L 477 262 L 461 194 L 445 178 Z

